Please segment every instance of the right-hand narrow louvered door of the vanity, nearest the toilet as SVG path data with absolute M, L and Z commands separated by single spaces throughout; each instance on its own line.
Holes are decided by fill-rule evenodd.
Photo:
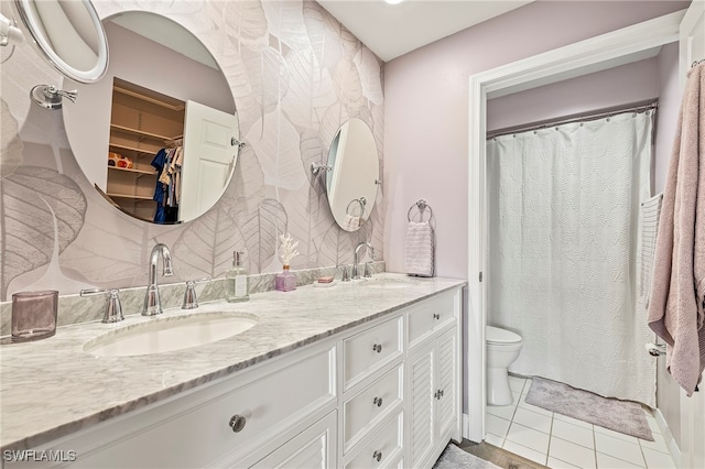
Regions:
M 456 329 L 452 328 L 437 341 L 436 367 L 436 423 L 437 435 L 446 440 L 453 435 L 458 419 L 458 395 L 456 383 L 458 377 L 458 355 Z

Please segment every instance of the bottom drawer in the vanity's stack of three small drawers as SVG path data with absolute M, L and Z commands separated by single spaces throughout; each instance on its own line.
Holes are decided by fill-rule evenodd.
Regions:
M 345 465 L 345 469 L 398 467 L 403 451 L 403 413 L 400 412 Z

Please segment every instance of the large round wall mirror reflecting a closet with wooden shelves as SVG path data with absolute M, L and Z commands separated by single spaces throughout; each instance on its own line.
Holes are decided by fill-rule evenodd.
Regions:
M 78 89 L 76 103 L 63 108 L 76 161 L 122 211 L 156 223 L 193 220 L 220 199 L 235 171 L 230 87 L 200 41 L 165 17 L 130 11 L 104 26 L 105 78 L 64 85 Z

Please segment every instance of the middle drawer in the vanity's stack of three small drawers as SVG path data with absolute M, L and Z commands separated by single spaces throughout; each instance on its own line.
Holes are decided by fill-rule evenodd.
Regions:
M 379 380 L 343 404 L 343 441 L 347 452 L 384 417 L 398 411 L 403 400 L 403 367 Z

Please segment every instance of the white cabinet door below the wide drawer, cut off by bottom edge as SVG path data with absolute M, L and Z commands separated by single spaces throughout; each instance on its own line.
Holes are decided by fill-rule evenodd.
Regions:
M 332 412 L 299 436 L 274 449 L 253 468 L 326 469 L 336 466 L 336 413 Z

